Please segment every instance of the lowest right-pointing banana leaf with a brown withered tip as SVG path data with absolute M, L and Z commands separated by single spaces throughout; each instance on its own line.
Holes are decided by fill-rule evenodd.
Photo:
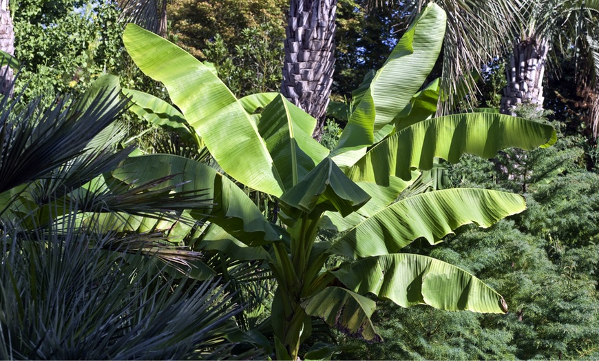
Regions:
M 349 289 L 397 305 L 448 311 L 506 313 L 505 300 L 481 280 L 449 263 L 418 254 L 387 254 L 341 266 L 333 274 Z

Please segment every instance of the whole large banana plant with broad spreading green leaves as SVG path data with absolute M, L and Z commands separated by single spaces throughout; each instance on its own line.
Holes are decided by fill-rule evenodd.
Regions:
M 419 90 L 439 56 L 445 23 L 445 12 L 434 3 L 414 20 L 353 102 L 332 152 L 311 138 L 315 119 L 283 96 L 257 96 L 255 107 L 244 106 L 193 56 L 127 25 L 123 41 L 136 65 L 165 85 L 229 177 L 277 198 L 279 224 L 269 222 L 227 176 L 191 159 L 129 157 L 112 176 L 143 182 L 176 174 L 161 186 L 187 182 L 174 189 L 207 189 L 213 205 L 191 214 L 219 231 L 204 236 L 202 247 L 251 254 L 277 280 L 270 318 L 277 359 L 297 359 L 313 318 L 381 341 L 370 320 L 375 302 L 368 293 L 403 307 L 507 312 L 499 293 L 463 269 L 399 253 L 417 238 L 434 245 L 461 225 L 490 227 L 525 209 L 522 196 L 487 189 L 445 189 L 396 201 L 435 158 L 491 158 L 505 147 L 532 149 L 556 141 L 549 125 L 502 114 L 432 118 L 427 104 L 435 85 Z M 260 116 L 252 114 L 262 105 Z M 343 233 L 335 241 L 318 240 L 323 228 Z M 332 256 L 346 262 L 326 268 Z

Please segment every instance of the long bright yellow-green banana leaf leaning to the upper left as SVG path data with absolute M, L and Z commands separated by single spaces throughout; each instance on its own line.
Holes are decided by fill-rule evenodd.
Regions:
M 165 84 L 172 101 L 227 174 L 261 192 L 283 193 L 280 176 L 254 121 L 206 65 L 133 24 L 127 25 L 123 43 L 140 70 Z

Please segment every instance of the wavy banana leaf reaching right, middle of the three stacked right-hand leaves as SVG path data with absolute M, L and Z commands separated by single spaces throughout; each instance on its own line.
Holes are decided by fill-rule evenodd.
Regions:
M 424 237 L 431 244 L 461 225 L 490 227 L 526 209 L 523 196 L 489 189 L 456 188 L 405 198 L 359 223 L 329 252 L 353 258 L 393 254 Z

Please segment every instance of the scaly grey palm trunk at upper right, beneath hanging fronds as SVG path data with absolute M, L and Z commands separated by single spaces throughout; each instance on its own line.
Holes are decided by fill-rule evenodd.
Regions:
M 549 41 L 528 37 L 514 43 L 514 53 L 507 70 L 507 85 L 503 89 L 501 112 L 514 115 L 521 103 L 543 107 L 543 73 L 547 64 Z

